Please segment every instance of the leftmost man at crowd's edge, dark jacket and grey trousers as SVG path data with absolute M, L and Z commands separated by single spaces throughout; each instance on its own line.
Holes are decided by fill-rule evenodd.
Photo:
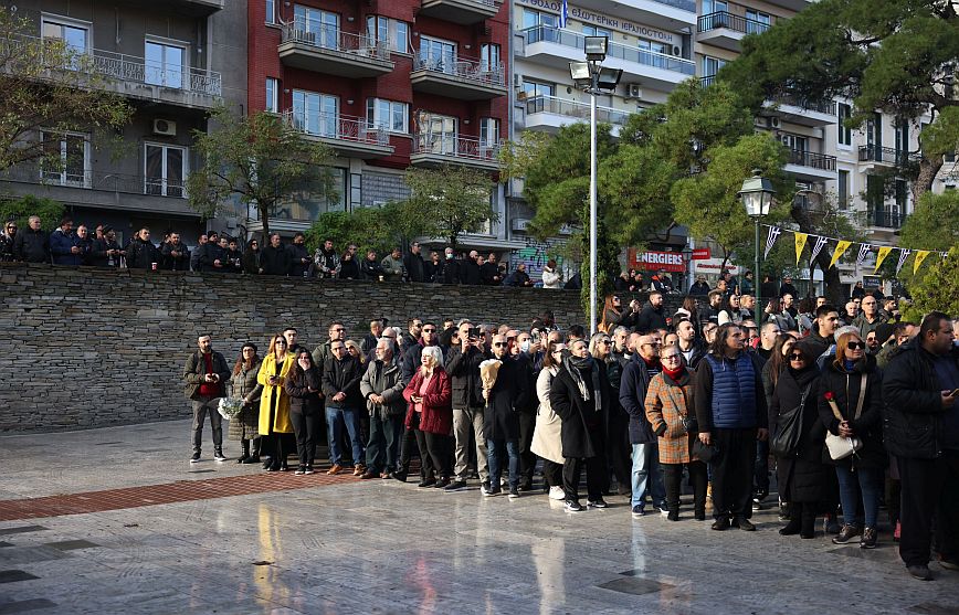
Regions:
M 209 412 L 210 428 L 213 431 L 213 458 L 225 462 L 223 456 L 223 420 L 217 406 L 220 397 L 226 394 L 225 384 L 230 381 L 230 367 L 222 354 L 213 350 L 210 336 L 197 338 L 198 351 L 191 352 L 183 365 L 185 394 L 193 405 L 193 456 L 190 463 L 200 460 L 203 441 L 203 418 Z

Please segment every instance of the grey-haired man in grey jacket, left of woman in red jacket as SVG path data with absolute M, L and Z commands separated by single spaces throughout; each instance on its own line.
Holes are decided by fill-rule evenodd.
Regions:
M 403 379 L 393 361 L 392 341 L 380 339 L 373 350 L 377 358 L 370 362 L 360 380 L 360 393 L 370 413 L 367 470 L 360 476 L 362 479 L 377 476 L 390 478 L 390 474 L 397 469 L 407 410 Z

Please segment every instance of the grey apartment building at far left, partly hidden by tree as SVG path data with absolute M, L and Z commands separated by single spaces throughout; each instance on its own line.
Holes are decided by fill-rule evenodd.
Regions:
M 12 3 L 7 2 L 12 9 Z M 17 14 L 43 39 L 87 54 L 105 87 L 134 107 L 123 144 L 92 134 L 41 132 L 59 147 L 62 170 L 23 165 L 0 178 L 0 191 L 57 200 L 77 222 L 113 225 L 126 240 L 140 226 L 177 231 L 194 242 L 203 227 L 187 203 L 185 180 L 199 163 L 192 131 L 207 129 L 219 104 L 245 103 L 245 11 L 226 0 L 24 0 Z

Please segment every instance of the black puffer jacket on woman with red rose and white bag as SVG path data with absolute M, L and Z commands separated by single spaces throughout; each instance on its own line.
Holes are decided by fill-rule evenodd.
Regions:
M 860 402 L 860 389 L 863 374 L 866 374 L 866 396 L 863 399 L 863 411 L 855 418 L 856 404 Z M 825 462 L 834 466 L 882 468 L 886 466 L 888 455 L 883 447 L 883 377 L 876 369 L 876 360 L 872 354 L 864 356 L 855 363 L 852 372 L 837 368 L 826 361 L 819 381 L 819 417 L 822 424 L 833 434 L 839 435 L 839 420 L 832 413 L 825 400 L 826 391 L 833 394 L 835 404 L 843 418 L 850 422 L 853 435 L 863 441 L 863 447 L 845 459 L 833 460 L 826 455 Z

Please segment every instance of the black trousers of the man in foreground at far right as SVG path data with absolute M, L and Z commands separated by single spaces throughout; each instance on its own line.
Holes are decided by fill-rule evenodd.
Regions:
M 929 563 L 929 543 L 932 538 L 932 515 L 942 497 L 947 460 L 897 457 L 899 480 L 903 485 L 903 506 L 899 511 L 902 536 L 899 556 L 910 565 Z

